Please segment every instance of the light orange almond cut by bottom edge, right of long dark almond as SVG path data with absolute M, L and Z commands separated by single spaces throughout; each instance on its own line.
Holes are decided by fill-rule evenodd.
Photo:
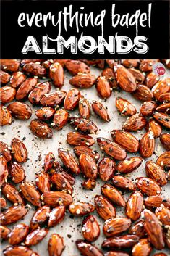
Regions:
M 152 251 L 149 239 L 140 239 L 132 248 L 132 256 L 149 256 Z

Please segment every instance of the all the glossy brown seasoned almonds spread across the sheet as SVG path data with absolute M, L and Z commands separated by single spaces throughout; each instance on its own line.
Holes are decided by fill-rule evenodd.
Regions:
M 7 256 L 36 256 L 30 249 L 38 244 L 51 227 L 64 220 L 66 211 L 83 217 L 82 236 L 76 245 L 84 256 L 102 256 L 103 252 L 92 243 L 100 236 L 100 226 L 92 212 L 103 219 L 101 244 L 105 256 L 149 256 L 153 248 L 170 248 L 170 199 L 161 196 L 162 186 L 170 181 L 170 78 L 160 79 L 153 73 L 153 59 L 1 59 L 1 125 L 10 125 L 14 119 L 28 120 L 32 108 L 24 102 L 40 106 L 35 110 L 36 119 L 30 121 L 30 130 L 40 139 L 51 139 L 53 129 L 60 130 L 71 125 L 75 131 L 67 134 L 67 144 L 74 146 L 75 156 L 68 149 L 59 148 L 58 155 L 46 154 L 43 171 L 35 176 L 35 183 L 28 182 L 22 163 L 28 159 L 25 144 L 14 138 L 10 147 L 0 142 L 1 156 L 1 239 L 7 240 L 4 249 Z M 170 61 L 160 60 L 170 68 Z M 95 78 L 90 65 L 101 69 Z M 69 91 L 62 91 L 64 69 L 73 76 Z M 46 78 L 43 83 L 38 78 Z M 51 92 L 51 85 L 56 91 Z M 108 99 L 114 90 L 132 94 L 142 104 L 140 114 L 127 99 L 116 98 L 116 108 L 127 117 L 122 130 L 111 131 L 111 139 L 96 137 L 98 127 L 90 120 L 91 109 L 104 122 L 109 122 L 109 112 L 101 101 L 88 102 L 78 88 L 95 86 L 101 99 Z M 6 105 L 8 104 L 8 105 Z M 80 116 L 72 116 L 78 107 Z M 162 127 L 167 133 L 162 133 Z M 131 132 L 145 128 L 146 133 L 138 140 Z M 155 151 L 155 140 L 160 138 L 166 149 L 156 162 L 145 163 L 146 177 L 138 177 L 133 183 L 126 176 L 136 170 L 143 159 Z M 97 142 L 103 152 L 91 149 Z M 140 156 L 127 157 L 127 153 Z M 73 185 L 77 175 L 85 181 L 84 189 L 93 189 L 99 177 L 103 181 L 101 194 L 95 195 L 94 205 L 75 202 Z M 16 185 L 19 184 L 20 190 Z M 122 191 L 131 191 L 124 199 Z M 12 203 L 7 207 L 6 199 Z M 30 205 L 35 212 L 30 226 L 16 224 L 12 230 L 7 226 L 17 223 L 28 212 Z M 126 217 L 116 217 L 116 206 L 123 207 Z M 66 241 L 65 241 L 66 242 Z M 64 239 L 52 234 L 48 241 L 49 256 L 59 256 L 64 250 Z M 155 256 L 166 256 L 157 253 Z

